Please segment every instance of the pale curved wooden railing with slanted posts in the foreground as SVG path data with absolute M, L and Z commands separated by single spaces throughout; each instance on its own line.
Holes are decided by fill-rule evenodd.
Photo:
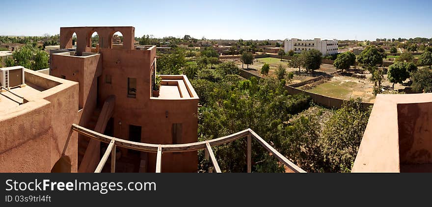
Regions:
M 300 167 L 295 165 L 285 156 L 277 152 L 269 143 L 264 141 L 258 134 L 256 134 L 252 129 L 244 129 L 234 134 L 228 136 L 202 141 L 194 142 L 188 144 L 173 144 L 173 145 L 158 145 L 158 144 L 147 144 L 141 142 L 132 142 L 125 139 L 119 139 L 116 137 L 107 136 L 96 131 L 83 128 L 79 125 L 73 124 L 72 130 L 78 133 L 90 137 L 92 139 L 99 140 L 101 142 L 109 143 L 107 151 L 105 151 L 104 156 L 102 156 L 99 165 L 97 166 L 95 173 L 100 173 L 105 163 L 107 162 L 109 154 L 111 154 L 111 173 L 115 171 L 115 148 L 116 146 L 133 149 L 142 152 L 157 153 L 156 156 L 156 172 L 161 172 L 162 166 L 162 153 L 175 153 L 175 152 L 191 152 L 198 150 L 205 150 L 205 157 L 213 163 L 213 167 L 217 173 L 221 173 L 219 165 L 217 164 L 216 156 L 213 153 L 212 146 L 221 145 L 227 142 L 232 142 L 234 140 L 247 137 L 247 172 L 250 173 L 252 169 L 251 155 L 252 155 L 252 138 L 254 138 L 258 143 L 260 143 L 271 155 L 275 156 L 281 163 L 286 165 L 292 172 L 295 173 L 305 173 Z

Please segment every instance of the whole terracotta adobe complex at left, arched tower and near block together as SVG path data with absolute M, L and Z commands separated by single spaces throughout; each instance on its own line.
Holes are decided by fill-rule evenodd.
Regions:
M 113 46 L 117 31 L 123 42 Z M 98 48 L 90 47 L 93 32 Z M 154 97 L 156 46 L 135 50 L 134 37 L 132 26 L 62 27 L 50 75 L 1 69 L 0 172 L 94 172 L 108 144 L 74 124 L 133 142 L 197 142 L 199 98 L 188 78 L 161 75 Z M 115 171 L 155 172 L 156 156 L 118 147 Z M 197 172 L 197 164 L 196 151 L 162 155 L 162 172 Z

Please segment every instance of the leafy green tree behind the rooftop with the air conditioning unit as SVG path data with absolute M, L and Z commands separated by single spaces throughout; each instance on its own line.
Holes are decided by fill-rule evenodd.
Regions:
M 12 52 L 12 57 L 5 60 L 6 67 L 23 66 L 27 69 L 37 71 L 49 67 L 48 54 L 31 45 L 25 45 L 17 51 Z

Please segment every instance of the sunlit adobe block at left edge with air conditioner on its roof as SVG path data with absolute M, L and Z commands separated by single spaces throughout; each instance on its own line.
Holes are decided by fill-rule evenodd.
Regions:
M 0 172 L 77 172 L 78 83 L 0 69 Z

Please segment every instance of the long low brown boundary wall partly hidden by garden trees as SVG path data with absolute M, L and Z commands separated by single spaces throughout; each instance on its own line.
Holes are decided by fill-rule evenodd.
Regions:
M 247 79 L 250 77 L 255 77 L 259 80 L 262 78 L 260 76 L 255 75 L 255 74 L 249 73 L 243 69 L 240 69 L 240 76 L 242 76 L 243 78 L 247 78 Z M 344 101 L 347 101 L 344 99 L 338 99 L 338 98 L 333 98 L 333 97 L 328 97 L 328 96 L 324 96 L 324 95 L 320 95 L 320 94 L 307 92 L 307 91 L 300 90 L 298 88 L 288 86 L 288 85 L 285 86 L 285 89 L 288 91 L 289 94 L 292 94 L 292 95 L 299 94 L 299 93 L 306 94 L 312 98 L 314 103 L 317 103 L 317 104 L 322 105 L 322 106 L 327 107 L 327 108 L 333 108 L 333 107 L 334 108 L 341 108 L 342 105 L 344 104 Z M 374 103 L 362 102 L 362 105 L 364 108 L 367 108 L 371 105 L 374 105 Z

